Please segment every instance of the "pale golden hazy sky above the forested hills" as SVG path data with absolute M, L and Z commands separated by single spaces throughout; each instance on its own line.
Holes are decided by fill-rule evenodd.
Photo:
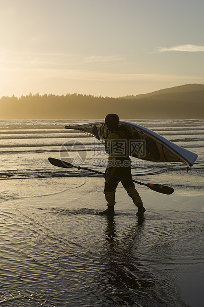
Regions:
M 204 84 L 204 0 L 0 0 L 0 97 Z

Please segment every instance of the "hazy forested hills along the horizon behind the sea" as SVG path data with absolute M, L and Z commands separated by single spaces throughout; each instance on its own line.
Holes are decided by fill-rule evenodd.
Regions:
M 121 119 L 204 118 L 204 85 L 190 84 L 135 97 L 39 94 L 1 97 L 0 118 L 104 118 L 117 113 Z

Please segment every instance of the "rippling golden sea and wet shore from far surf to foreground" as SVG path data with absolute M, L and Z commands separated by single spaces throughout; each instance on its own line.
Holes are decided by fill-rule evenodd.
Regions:
M 203 307 L 204 120 L 124 120 L 198 154 L 188 173 L 133 158 L 135 180 L 175 190 L 137 185 L 143 218 L 121 185 L 114 217 L 97 214 L 103 176 L 48 161 L 104 172 L 103 145 L 64 129 L 101 119 L 0 120 L 0 306 Z

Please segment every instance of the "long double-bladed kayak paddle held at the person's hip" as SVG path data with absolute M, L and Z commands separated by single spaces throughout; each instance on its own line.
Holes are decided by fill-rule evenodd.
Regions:
M 91 172 L 94 172 L 94 173 L 97 173 L 97 174 L 102 174 L 103 176 L 105 175 L 104 173 L 99 172 L 97 170 L 90 169 L 90 168 L 87 168 L 87 167 L 75 166 L 73 164 L 70 164 L 68 162 L 65 162 L 65 161 L 62 161 L 62 160 L 59 160 L 59 159 L 54 159 L 54 158 L 48 158 L 48 159 L 49 159 L 50 163 L 54 166 L 64 167 L 64 168 L 75 167 L 75 168 L 78 168 L 78 169 L 88 170 L 88 171 L 91 171 Z M 160 184 L 143 183 L 143 182 L 139 182 L 139 181 L 136 181 L 136 180 L 133 180 L 133 179 L 125 179 L 125 178 L 121 178 L 121 177 L 117 177 L 117 176 L 113 176 L 113 177 L 116 177 L 116 178 L 119 178 L 119 179 L 124 179 L 124 180 L 131 180 L 131 181 L 133 181 L 137 184 L 146 186 L 146 187 L 150 188 L 151 190 L 158 192 L 158 193 L 162 193 L 162 194 L 170 195 L 174 192 L 173 188 L 163 186 L 163 185 L 160 185 Z

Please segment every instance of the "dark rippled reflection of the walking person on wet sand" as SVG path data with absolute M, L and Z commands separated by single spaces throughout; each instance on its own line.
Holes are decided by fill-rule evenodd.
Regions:
M 103 306 L 151 306 L 152 300 L 160 307 L 177 306 L 168 297 L 175 295 L 172 289 L 166 295 L 165 305 L 163 294 L 160 297 L 156 291 L 154 274 L 135 257 L 134 249 L 142 240 L 144 227 L 145 217 L 140 217 L 120 238 L 114 217 L 107 217 L 101 251 L 103 269 L 97 276 L 99 292 L 103 290 Z

